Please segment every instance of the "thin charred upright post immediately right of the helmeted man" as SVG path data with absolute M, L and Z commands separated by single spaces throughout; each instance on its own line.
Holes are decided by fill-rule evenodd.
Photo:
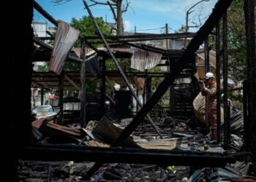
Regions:
M 220 125 L 221 125 L 221 112 L 220 112 L 220 39 L 219 39 L 219 23 L 216 25 L 216 82 L 217 82 L 217 142 L 220 142 Z

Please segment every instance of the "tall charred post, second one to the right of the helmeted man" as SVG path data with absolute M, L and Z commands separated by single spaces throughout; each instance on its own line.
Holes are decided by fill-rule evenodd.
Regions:
M 222 22 L 222 47 L 223 47 L 223 103 L 224 103 L 224 146 L 227 149 L 228 144 L 230 143 L 230 112 L 227 104 L 227 65 L 228 65 L 228 58 L 227 58 L 227 12 L 223 16 Z

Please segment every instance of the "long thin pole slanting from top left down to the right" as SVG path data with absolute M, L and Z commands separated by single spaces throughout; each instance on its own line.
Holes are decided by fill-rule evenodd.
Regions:
M 91 19 L 93 20 L 94 22 L 94 25 L 102 39 L 102 41 L 104 42 L 105 44 L 105 47 L 107 48 L 108 50 L 108 53 L 110 54 L 111 58 L 113 59 L 115 65 L 116 65 L 116 68 L 118 69 L 118 71 L 120 72 L 121 76 L 123 77 L 124 79 L 124 82 L 127 84 L 127 87 L 129 88 L 129 91 L 132 93 L 133 97 L 135 98 L 135 100 L 137 101 L 137 103 L 139 104 L 140 108 L 142 107 L 142 104 L 140 103 L 140 100 L 139 98 L 137 97 L 136 93 L 134 92 L 134 90 L 132 89 L 132 86 L 129 84 L 129 81 L 127 79 L 127 76 L 125 76 L 124 74 L 124 71 L 122 70 L 121 66 L 119 65 L 118 61 L 116 60 L 116 57 L 115 55 L 113 55 L 113 51 L 110 49 L 109 45 L 108 45 L 108 42 L 105 40 L 105 36 L 103 35 L 102 31 L 100 30 L 99 28 L 99 25 L 97 24 L 94 16 L 92 15 L 91 13 L 91 9 L 89 8 L 88 4 L 86 3 L 86 1 L 83 0 L 83 4 L 85 5 L 87 11 L 89 12 L 89 15 L 91 17 Z M 157 130 L 157 126 L 154 124 L 153 120 L 151 119 L 151 117 L 146 114 L 146 117 L 148 119 L 148 121 L 151 123 L 152 127 L 154 127 L 154 130 L 157 131 L 158 135 L 160 136 L 160 138 L 162 138 L 162 135 L 161 133 Z

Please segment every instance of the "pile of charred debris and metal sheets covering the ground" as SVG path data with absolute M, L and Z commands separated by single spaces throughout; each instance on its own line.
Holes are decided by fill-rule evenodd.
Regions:
M 243 118 L 238 111 L 231 115 L 230 149 L 211 141 L 209 135 L 190 127 L 192 119 L 186 117 L 166 117 L 159 119 L 157 127 L 141 124 L 124 142 L 125 147 L 138 149 L 167 149 L 177 152 L 208 151 L 217 154 L 243 151 Z M 132 119 L 113 122 L 103 116 L 100 121 L 91 121 L 86 128 L 80 124 L 56 124 L 50 119 L 36 119 L 32 122 L 34 142 L 43 144 L 69 143 L 72 145 L 110 147 Z M 170 165 L 105 164 L 91 176 L 91 181 L 231 181 L 256 180 L 255 165 L 249 162 L 247 154 L 238 154 L 236 164 L 225 167 L 193 168 Z M 200 162 L 200 161 L 199 161 Z M 92 162 L 34 162 L 20 160 L 19 181 L 84 181 Z

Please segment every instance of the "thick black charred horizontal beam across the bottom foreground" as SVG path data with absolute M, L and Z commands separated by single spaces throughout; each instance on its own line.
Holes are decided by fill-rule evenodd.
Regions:
M 48 145 L 23 148 L 18 154 L 18 159 L 40 161 L 82 160 L 88 162 L 185 165 L 194 167 L 221 167 L 227 163 L 236 162 L 236 158 L 232 155 L 211 152 Z

